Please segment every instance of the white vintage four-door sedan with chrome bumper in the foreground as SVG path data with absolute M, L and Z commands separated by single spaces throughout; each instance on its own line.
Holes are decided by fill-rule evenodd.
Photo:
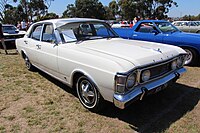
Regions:
M 183 49 L 121 39 L 96 19 L 37 22 L 16 45 L 27 69 L 37 67 L 76 89 L 81 104 L 91 111 L 102 109 L 105 100 L 123 109 L 186 71 Z

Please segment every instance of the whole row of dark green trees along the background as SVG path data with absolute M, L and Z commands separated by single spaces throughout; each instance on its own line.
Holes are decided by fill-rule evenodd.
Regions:
M 9 4 L 16 2 L 17 6 Z M 51 2 L 58 0 L 0 0 L 0 21 L 16 24 L 17 21 L 44 20 L 57 18 L 55 13 L 49 13 Z M 108 6 L 103 6 L 99 0 L 75 0 L 66 5 L 61 17 L 87 17 L 105 20 L 126 19 L 134 17 L 164 19 L 172 7 L 178 4 L 174 0 L 112 0 Z

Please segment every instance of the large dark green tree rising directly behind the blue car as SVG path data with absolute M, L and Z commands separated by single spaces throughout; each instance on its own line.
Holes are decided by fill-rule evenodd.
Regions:
M 172 6 L 178 6 L 173 0 L 119 0 L 121 14 L 125 19 L 140 16 L 163 19 Z

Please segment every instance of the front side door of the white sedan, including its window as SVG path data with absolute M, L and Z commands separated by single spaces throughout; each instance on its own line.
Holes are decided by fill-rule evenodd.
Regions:
M 37 62 L 39 67 L 49 74 L 57 76 L 57 50 L 53 24 L 43 24 L 40 41 L 35 45 L 37 49 Z

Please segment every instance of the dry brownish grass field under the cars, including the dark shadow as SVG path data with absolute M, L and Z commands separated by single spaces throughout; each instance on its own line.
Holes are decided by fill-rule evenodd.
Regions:
M 200 67 L 168 89 L 125 110 L 108 103 L 99 114 L 82 107 L 66 85 L 26 70 L 22 58 L 0 54 L 0 133 L 4 132 L 200 132 Z

